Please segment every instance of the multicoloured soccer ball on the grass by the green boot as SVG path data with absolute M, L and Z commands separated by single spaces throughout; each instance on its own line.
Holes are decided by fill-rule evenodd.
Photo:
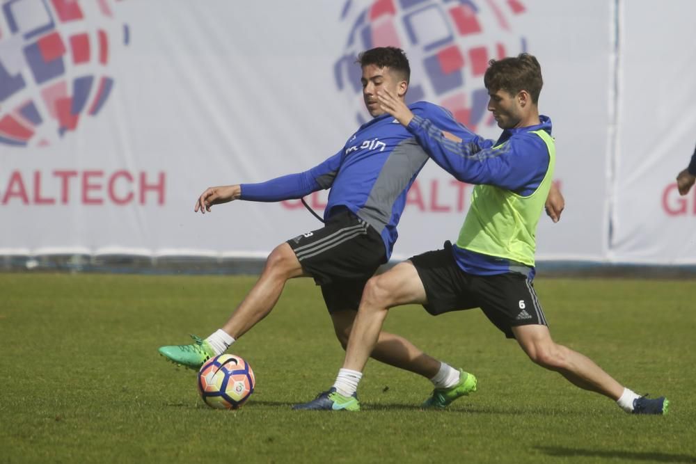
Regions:
M 255 383 L 251 366 L 237 355 L 217 355 L 198 371 L 198 392 L 211 408 L 241 408 L 254 392 Z

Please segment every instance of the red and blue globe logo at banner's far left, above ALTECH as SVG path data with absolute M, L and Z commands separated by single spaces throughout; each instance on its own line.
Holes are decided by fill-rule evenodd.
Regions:
M 8 0 L 0 12 L 0 143 L 47 145 L 100 112 L 113 88 L 113 0 Z M 118 31 L 114 33 L 113 31 Z M 121 35 L 118 37 L 118 35 Z

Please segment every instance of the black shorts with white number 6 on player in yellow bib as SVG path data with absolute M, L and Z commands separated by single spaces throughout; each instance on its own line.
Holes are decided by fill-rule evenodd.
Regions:
M 434 316 L 480 307 L 507 338 L 514 338 L 512 327 L 548 325 L 534 286 L 523 274 L 466 273 L 454 261 L 449 241 L 445 249 L 414 256 L 411 262 L 425 287 L 425 310 Z

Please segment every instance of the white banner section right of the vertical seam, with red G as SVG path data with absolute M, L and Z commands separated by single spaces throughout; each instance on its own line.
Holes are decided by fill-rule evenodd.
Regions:
M 696 3 L 624 3 L 610 259 L 695 264 L 696 189 L 681 197 L 674 178 L 696 144 Z

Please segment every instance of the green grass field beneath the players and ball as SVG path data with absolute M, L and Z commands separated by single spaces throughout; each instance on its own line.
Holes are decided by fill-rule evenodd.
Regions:
M 319 289 L 290 282 L 232 352 L 256 391 L 212 410 L 193 371 L 157 354 L 219 328 L 255 278 L 0 274 L 0 463 L 696 463 L 693 280 L 537 279 L 557 342 L 666 417 L 623 413 L 532 365 L 478 310 L 391 311 L 386 329 L 479 378 L 449 410 L 431 384 L 371 361 L 360 413 L 300 412 L 343 351 Z

